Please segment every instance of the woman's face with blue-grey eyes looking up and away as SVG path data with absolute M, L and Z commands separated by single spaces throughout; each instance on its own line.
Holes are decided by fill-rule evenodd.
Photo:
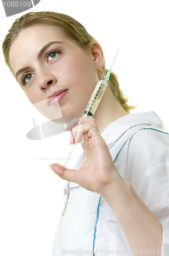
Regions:
M 53 26 L 34 25 L 19 33 L 9 60 L 32 104 L 43 102 L 49 112 L 59 105 L 62 115 L 82 116 L 99 79 L 98 51 L 81 49 Z

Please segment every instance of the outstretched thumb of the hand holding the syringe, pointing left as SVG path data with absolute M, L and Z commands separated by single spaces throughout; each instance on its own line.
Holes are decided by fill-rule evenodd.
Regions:
M 50 164 L 51 169 L 56 173 L 60 178 L 67 181 L 75 181 L 76 170 L 67 169 L 66 166 L 62 166 L 58 163 Z

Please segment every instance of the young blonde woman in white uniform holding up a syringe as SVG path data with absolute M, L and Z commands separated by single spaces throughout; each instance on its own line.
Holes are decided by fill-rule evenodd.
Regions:
M 113 73 L 94 118 L 81 118 L 107 72 L 98 42 L 67 15 L 33 12 L 13 23 L 3 52 L 32 104 L 80 118 L 67 130 L 84 155 L 74 169 L 51 165 L 69 196 L 52 255 L 168 255 L 169 136 L 160 119 L 129 115 Z

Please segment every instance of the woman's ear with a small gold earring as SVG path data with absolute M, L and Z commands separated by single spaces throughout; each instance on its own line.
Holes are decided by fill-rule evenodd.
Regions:
M 96 70 L 99 70 L 99 66 L 103 66 L 104 55 L 102 47 L 98 44 L 98 42 L 94 41 L 91 45 L 91 53 L 94 58 L 94 65 Z

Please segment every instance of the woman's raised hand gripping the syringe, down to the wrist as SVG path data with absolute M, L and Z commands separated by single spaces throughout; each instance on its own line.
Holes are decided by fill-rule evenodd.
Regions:
M 80 120 L 80 121 L 79 121 Z M 106 142 L 101 137 L 94 119 L 75 118 L 67 126 L 71 131 L 70 144 L 82 142 L 86 155 L 78 170 L 67 169 L 59 164 L 52 164 L 53 171 L 62 179 L 73 181 L 80 186 L 103 195 L 117 180 L 123 180 L 118 174 Z M 72 130 L 71 130 L 72 129 Z M 73 136 L 72 136 L 73 133 Z

